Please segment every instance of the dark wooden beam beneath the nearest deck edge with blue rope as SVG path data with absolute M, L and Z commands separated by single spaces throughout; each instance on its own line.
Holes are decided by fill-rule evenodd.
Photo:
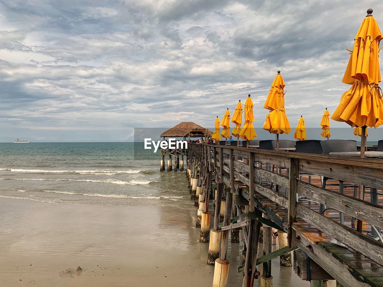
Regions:
M 309 258 L 307 264 L 307 257 L 300 249 L 293 252 L 294 265 L 293 269 L 296 275 L 302 280 L 333 280 L 334 278 L 328 274 L 321 266 L 319 266 L 313 259 Z M 309 266 L 309 270 L 307 267 Z

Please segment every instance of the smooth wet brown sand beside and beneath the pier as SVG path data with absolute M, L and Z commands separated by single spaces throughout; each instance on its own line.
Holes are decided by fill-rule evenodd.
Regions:
M 195 209 L 10 198 L 0 198 L 0 206 L 0 286 L 212 284 Z M 229 243 L 229 286 L 242 286 L 240 248 Z M 275 286 L 309 286 L 292 267 L 280 267 L 279 258 L 272 263 Z

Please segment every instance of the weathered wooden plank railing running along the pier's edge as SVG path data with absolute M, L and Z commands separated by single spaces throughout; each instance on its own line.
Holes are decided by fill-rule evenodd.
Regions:
M 371 196 L 378 199 L 377 194 L 383 189 L 383 160 L 195 143 L 189 143 L 188 152 L 198 155 L 203 161 L 207 160 L 206 164 L 231 193 L 246 198 L 250 207 L 259 205 L 288 234 L 290 248 L 298 246 L 306 250 L 309 256 L 311 254 L 314 261 L 326 262 L 324 254 L 314 252 L 312 246 L 306 244 L 318 242 L 313 242 L 309 232 L 300 230 L 300 224 L 305 222 L 375 263 L 382 264 L 383 244 L 357 229 L 362 224 L 366 226 L 366 223 L 376 229 L 383 228 L 383 206 L 378 201 L 372 203 L 363 200 L 366 187 L 375 190 L 375 194 Z M 310 183 L 304 181 L 305 176 L 316 176 L 317 184 L 311 183 L 311 180 Z M 334 188 L 324 188 L 323 179 L 335 179 L 339 186 L 347 183 L 354 194 L 341 194 L 332 190 Z M 297 200 L 300 197 L 308 201 L 300 202 Z M 283 212 L 278 215 L 278 212 L 267 205 L 261 206 L 262 198 L 277 204 L 279 210 L 287 212 L 287 216 Z M 341 215 L 339 218 L 323 215 L 313 208 L 320 204 Z M 356 219 L 358 228 L 352 228 L 350 222 L 342 222 L 344 215 Z M 322 267 L 327 272 L 331 271 L 329 273 L 334 278 L 341 277 L 341 274 L 336 273 L 342 269 L 329 263 L 330 261 L 327 260 L 327 266 Z M 340 279 L 340 282 L 355 284 L 354 281 L 347 280 Z

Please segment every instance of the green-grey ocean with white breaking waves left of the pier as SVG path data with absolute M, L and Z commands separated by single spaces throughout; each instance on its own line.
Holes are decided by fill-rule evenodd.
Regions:
M 0 196 L 190 207 L 185 173 L 159 166 L 160 153 L 143 143 L 0 143 Z

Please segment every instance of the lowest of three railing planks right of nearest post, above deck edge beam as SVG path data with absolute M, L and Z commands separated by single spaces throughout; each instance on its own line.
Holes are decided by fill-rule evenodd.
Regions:
M 345 245 L 351 246 L 373 261 L 377 263 L 383 262 L 383 244 L 380 243 L 380 241 L 375 241 L 299 203 L 296 204 L 296 214 L 301 219 L 310 222 L 316 228 L 326 230 L 326 233 L 329 235 L 343 242 Z

